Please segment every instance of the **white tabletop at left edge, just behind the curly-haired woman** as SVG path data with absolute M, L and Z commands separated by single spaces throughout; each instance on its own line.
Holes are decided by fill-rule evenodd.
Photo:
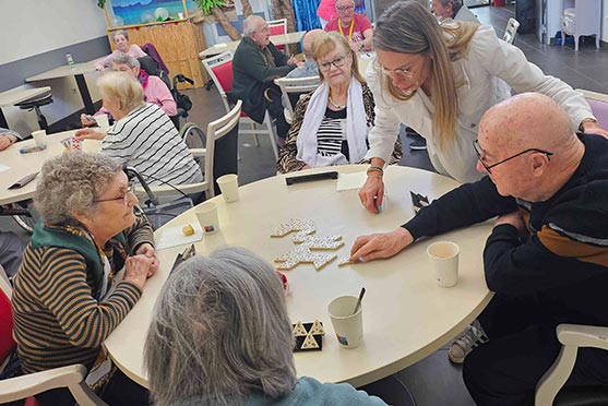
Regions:
M 20 189 L 9 189 L 11 184 L 23 177 L 39 171 L 45 162 L 49 158 L 59 156 L 65 148 L 61 145 L 61 140 L 74 135 L 75 130 L 59 132 L 47 135 L 47 148 L 28 154 L 21 154 L 19 150 L 34 146 L 34 140 L 17 142 L 7 150 L 0 152 L 0 165 L 9 167 L 0 171 L 0 204 L 9 204 L 32 199 L 36 190 L 37 178 Z M 86 152 L 98 152 L 100 142 L 86 140 L 83 143 Z

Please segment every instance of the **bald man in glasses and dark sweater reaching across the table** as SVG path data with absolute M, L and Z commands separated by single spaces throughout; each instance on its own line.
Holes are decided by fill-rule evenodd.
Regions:
M 608 326 L 608 140 L 574 134 L 565 111 L 534 93 L 490 108 L 478 134 L 477 169 L 488 176 L 393 232 L 359 237 L 351 259 L 393 256 L 421 237 L 496 217 L 484 251 L 496 295 L 449 356 L 464 361 L 477 405 L 532 405 L 560 350 L 556 326 Z M 580 349 L 567 385 L 608 385 L 608 351 Z

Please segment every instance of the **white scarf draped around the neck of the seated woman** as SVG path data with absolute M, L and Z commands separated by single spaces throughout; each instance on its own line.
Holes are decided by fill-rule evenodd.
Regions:
M 323 117 L 325 117 L 329 96 L 330 86 L 327 82 L 323 82 L 310 97 L 302 127 L 296 141 L 298 148 L 296 158 L 306 163 L 311 168 L 348 164 L 348 160 L 342 153 L 332 156 L 322 156 L 318 153 L 317 133 Z M 353 76 L 346 99 L 346 141 L 348 142 L 348 154 L 351 164 L 358 163 L 366 155 L 368 150 L 366 140 L 369 130 L 363 107 L 363 87 Z

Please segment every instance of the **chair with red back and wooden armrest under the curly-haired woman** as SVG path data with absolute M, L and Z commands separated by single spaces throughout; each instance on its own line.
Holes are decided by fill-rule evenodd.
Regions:
M 9 279 L 5 277 L 4 271 L 0 270 L 0 319 L 2 319 L 3 327 L 0 329 L 0 333 L 2 333 L 0 343 L 14 346 L 11 297 L 12 288 Z M 3 320 L 7 317 L 9 321 Z M 10 327 L 7 329 L 9 324 Z M 4 363 L 5 360 L 0 359 L 0 369 L 5 367 Z M 72 365 L 2 380 L 0 381 L 0 404 L 26 399 L 25 405 L 33 406 L 38 404 L 33 397 L 34 395 L 52 389 L 67 387 L 81 406 L 107 406 L 84 382 L 87 370 L 83 365 Z

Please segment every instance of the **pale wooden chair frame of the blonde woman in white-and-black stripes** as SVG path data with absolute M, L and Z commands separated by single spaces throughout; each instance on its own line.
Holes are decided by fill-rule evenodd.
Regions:
M 203 181 L 198 183 L 189 184 L 176 184 L 176 186 L 155 186 L 150 189 L 157 196 L 163 195 L 175 195 L 176 189 L 184 194 L 196 194 L 205 192 L 207 199 L 215 195 L 214 186 L 214 159 L 216 142 L 224 135 L 228 134 L 239 123 L 240 109 L 242 101 L 237 100 L 235 107 L 224 117 L 212 121 L 207 124 L 207 133 L 205 140 L 204 148 L 190 148 L 194 157 L 204 157 L 204 169 L 203 169 Z M 190 131 L 193 131 L 193 126 L 189 126 Z M 201 162 L 202 159 L 200 159 Z M 146 196 L 143 189 L 138 188 L 135 190 L 138 196 Z

